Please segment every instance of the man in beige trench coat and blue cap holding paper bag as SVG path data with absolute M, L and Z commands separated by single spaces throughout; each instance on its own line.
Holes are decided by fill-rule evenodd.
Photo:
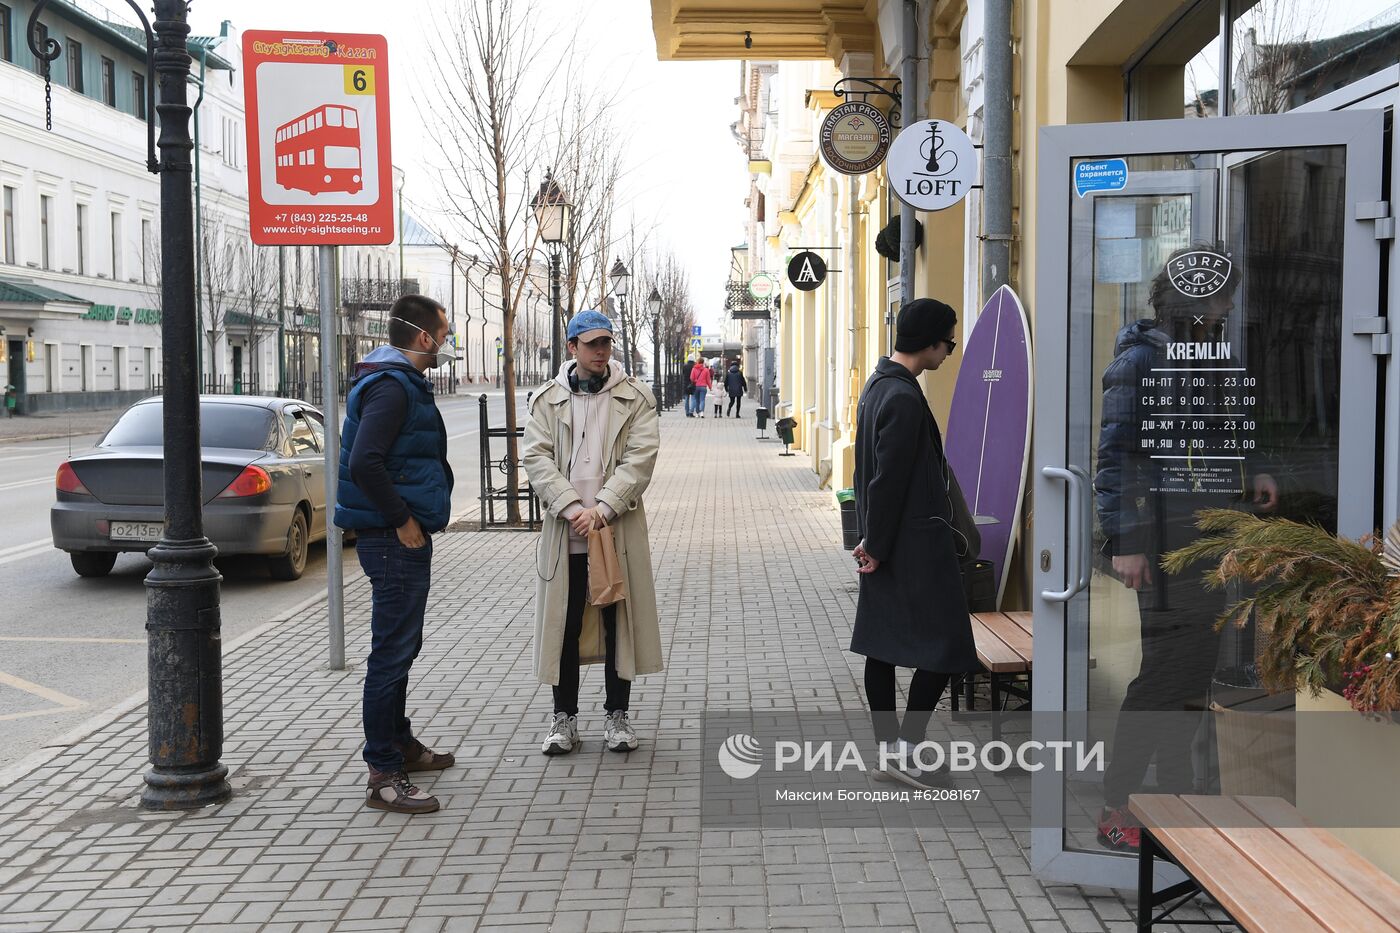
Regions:
M 566 331 L 567 360 L 531 399 L 525 472 L 545 510 L 535 552 L 535 672 L 553 686 L 540 749 L 575 751 L 581 664 L 603 664 L 603 744 L 637 748 L 631 682 L 661 670 L 661 623 L 641 495 L 657 465 L 657 402 L 612 359 L 613 324 L 582 311 Z M 624 597 L 589 601 L 589 532 L 609 527 Z

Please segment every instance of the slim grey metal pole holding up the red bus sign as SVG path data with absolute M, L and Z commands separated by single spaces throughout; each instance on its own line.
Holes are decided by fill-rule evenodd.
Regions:
M 340 479 L 340 380 L 336 352 L 336 248 L 318 247 L 321 307 L 321 408 L 326 417 L 326 622 L 329 628 L 328 664 L 332 671 L 346 670 L 344 570 L 342 531 L 336 527 L 336 485 Z

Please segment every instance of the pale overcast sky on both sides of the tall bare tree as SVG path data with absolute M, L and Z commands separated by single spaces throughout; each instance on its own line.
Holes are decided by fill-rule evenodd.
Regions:
M 122 0 L 95 0 L 130 18 Z M 217 35 L 231 20 L 246 29 L 336 29 L 381 34 L 389 43 L 393 163 L 406 172 L 406 200 L 433 205 L 433 175 L 424 157 L 427 140 L 413 101 L 414 60 L 424 53 L 427 7 L 438 0 L 193 0 L 196 35 Z M 724 307 L 729 247 L 743 240 L 748 170 L 729 136 L 738 119 L 736 62 L 658 62 L 647 0 L 539 0 L 540 10 L 566 31 L 578 31 L 587 52 L 575 80 L 620 85 L 619 115 L 631 165 L 626 196 L 640 217 L 657 217 L 658 238 L 690 270 L 700 321 L 714 325 Z M 410 11 L 420 11 L 412 15 Z M 421 66 L 419 66 L 421 67 Z M 426 212 L 424 212 L 426 213 Z M 421 217 L 441 228 L 444 221 Z M 447 231 L 451 234 L 451 231 Z M 461 235 L 461 231 L 458 231 Z M 466 237 L 462 235 L 463 248 Z M 710 329 L 707 326 L 707 329 Z

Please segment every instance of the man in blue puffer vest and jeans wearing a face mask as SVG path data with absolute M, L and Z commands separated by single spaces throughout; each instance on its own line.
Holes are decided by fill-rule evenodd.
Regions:
M 420 294 L 395 301 L 389 346 L 356 366 L 340 433 L 336 525 L 356 532 L 374 591 L 364 678 L 365 803 L 393 813 L 437 810 L 437 797 L 416 787 L 409 772 L 455 763 L 414 738 L 406 716 L 433 579 L 430 535 L 447 527 L 452 511 L 447 429 L 423 374 L 455 354 L 441 304 Z

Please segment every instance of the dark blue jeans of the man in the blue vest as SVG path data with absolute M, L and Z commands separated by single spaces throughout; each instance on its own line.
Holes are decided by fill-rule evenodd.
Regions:
M 375 770 L 403 768 L 398 744 L 413 738 L 406 714 L 409 668 L 423 647 L 423 612 L 433 581 L 433 539 L 405 548 L 398 535 L 361 537 L 360 566 L 374 591 L 372 642 L 364 675 L 364 759 Z

